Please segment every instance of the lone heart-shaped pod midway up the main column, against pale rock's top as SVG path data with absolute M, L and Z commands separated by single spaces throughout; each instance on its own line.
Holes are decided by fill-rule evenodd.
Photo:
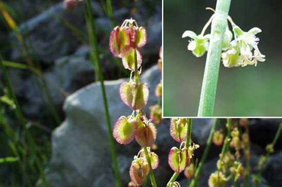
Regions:
M 119 95 L 132 110 L 141 110 L 148 102 L 149 89 L 147 84 L 136 85 L 134 81 L 123 82 L 119 87 Z

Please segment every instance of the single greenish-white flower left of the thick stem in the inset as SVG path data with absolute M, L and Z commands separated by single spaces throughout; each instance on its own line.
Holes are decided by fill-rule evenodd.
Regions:
M 190 37 L 192 38 L 192 40 L 189 41 L 188 44 L 188 50 L 192 51 L 192 53 L 197 56 L 197 57 L 201 57 L 205 54 L 205 52 L 208 49 L 208 40 L 210 37 L 210 34 L 207 35 L 197 35 L 195 32 L 193 31 L 185 31 L 182 34 L 182 38 L 184 37 Z

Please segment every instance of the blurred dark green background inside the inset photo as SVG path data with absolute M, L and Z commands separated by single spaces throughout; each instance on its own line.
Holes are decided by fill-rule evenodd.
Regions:
M 164 0 L 164 116 L 197 116 L 206 54 L 194 56 L 181 36 L 199 34 L 212 14 L 205 8 L 215 6 L 216 0 Z M 244 68 L 221 62 L 215 116 L 282 116 L 281 7 L 274 0 L 231 2 L 230 16 L 242 30 L 262 30 L 257 36 L 266 61 Z

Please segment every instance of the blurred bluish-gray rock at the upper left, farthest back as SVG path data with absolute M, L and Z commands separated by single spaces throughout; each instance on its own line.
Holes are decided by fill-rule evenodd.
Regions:
M 92 2 L 94 16 L 102 16 L 103 11 L 98 3 Z M 33 59 L 51 64 L 55 59 L 68 55 L 79 47 L 81 38 L 78 38 L 72 30 L 66 27 L 68 22 L 85 31 L 83 4 L 80 4 L 74 11 L 66 11 L 63 3 L 58 3 L 32 17 L 20 25 L 20 31 L 26 38 L 27 47 L 32 53 Z M 22 44 L 11 34 L 13 60 L 24 58 Z

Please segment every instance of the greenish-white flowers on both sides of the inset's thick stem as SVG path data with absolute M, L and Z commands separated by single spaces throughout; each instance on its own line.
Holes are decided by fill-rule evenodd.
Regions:
M 211 8 L 207 9 L 214 11 Z M 214 15 L 210 17 L 201 34 L 197 35 L 195 32 L 189 30 L 185 31 L 182 34 L 182 38 L 191 38 L 187 48 L 189 51 L 192 51 L 192 53 L 197 57 L 203 56 L 208 50 L 208 41 L 210 39 L 210 34 L 204 35 L 204 33 L 213 20 Z M 261 30 L 257 27 L 254 27 L 248 32 L 245 32 L 233 22 L 230 16 L 228 16 L 228 21 L 232 25 L 233 33 L 227 25 L 222 43 L 221 54 L 224 67 L 231 68 L 251 65 L 257 66 L 257 63 L 259 61 L 265 61 L 266 56 L 263 55 L 258 49 L 259 38 L 256 36 L 256 34 L 260 33 Z

